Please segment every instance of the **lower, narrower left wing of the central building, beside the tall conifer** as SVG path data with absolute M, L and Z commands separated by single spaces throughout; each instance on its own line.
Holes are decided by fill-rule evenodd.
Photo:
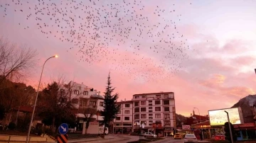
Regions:
M 114 119 L 114 133 L 128 134 L 132 132 L 132 101 L 118 102 L 121 105 L 117 118 Z

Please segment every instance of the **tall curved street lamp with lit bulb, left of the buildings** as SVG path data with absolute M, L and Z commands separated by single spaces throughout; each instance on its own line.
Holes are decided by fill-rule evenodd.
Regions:
M 54 55 L 53 57 L 57 58 L 58 55 Z M 46 59 L 46 62 L 47 62 L 49 59 L 53 58 L 53 57 L 49 57 L 48 59 Z M 46 62 L 43 63 L 43 68 L 44 68 Z M 41 76 L 40 76 L 40 79 L 39 79 L 38 89 L 37 89 L 37 92 L 36 92 L 36 101 L 37 101 L 37 98 L 38 98 L 38 92 L 39 92 L 39 86 L 40 86 L 41 79 L 42 79 L 42 74 L 43 74 L 43 69 L 42 69 L 42 71 L 41 71 Z M 32 122 L 33 122 L 33 116 L 34 116 L 34 113 L 35 113 L 35 110 L 36 110 L 36 101 L 35 101 L 35 104 L 33 105 L 33 112 L 32 112 L 32 115 L 31 115 L 31 122 L 29 123 L 29 127 L 28 127 L 28 135 L 27 135 L 27 137 L 26 137 L 26 143 L 29 142 L 28 139 L 29 139 L 29 135 L 30 135 L 30 132 L 31 132 L 31 126 L 32 126 Z

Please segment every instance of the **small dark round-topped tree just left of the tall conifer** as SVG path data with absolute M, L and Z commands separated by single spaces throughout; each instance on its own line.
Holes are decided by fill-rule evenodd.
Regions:
M 96 108 L 80 108 L 80 113 L 85 115 L 85 134 L 87 134 L 87 130 L 90 124 L 90 121 L 92 121 L 92 116 L 96 115 L 97 109 Z

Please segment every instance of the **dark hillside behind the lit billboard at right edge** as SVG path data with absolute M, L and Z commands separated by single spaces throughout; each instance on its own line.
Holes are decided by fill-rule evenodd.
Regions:
M 255 110 L 253 106 L 256 105 L 256 95 L 249 95 L 245 98 L 240 99 L 238 103 L 235 103 L 231 108 L 240 107 L 242 109 L 242 115 L 244 122 L 254 122 L 253 117 L 255 116 Z

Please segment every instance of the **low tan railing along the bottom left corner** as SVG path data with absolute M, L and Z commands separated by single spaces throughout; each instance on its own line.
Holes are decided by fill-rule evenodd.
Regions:
M 29 137 L 28 142 L 47 142 L 47 137 Z M 25 136 L 0 135 L 0 142 L 26 142 Z

